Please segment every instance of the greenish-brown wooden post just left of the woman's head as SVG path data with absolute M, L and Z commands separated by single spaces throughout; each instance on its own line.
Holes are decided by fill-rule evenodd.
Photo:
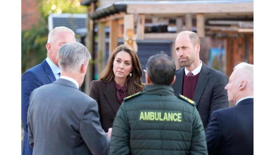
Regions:
M 99 76 L 105 67 L 106 42 L 105 22 L 98 23 L 97 41 L 97 75 Z

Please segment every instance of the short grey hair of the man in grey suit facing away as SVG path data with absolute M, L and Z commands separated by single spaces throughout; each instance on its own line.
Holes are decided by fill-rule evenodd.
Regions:
M 79 42 L 69 42 L 60 47 L 57 52 L 58 65 L 61 70 L 76 72 L 84 61 L 89 63 L 91 54 L 88 49 Z

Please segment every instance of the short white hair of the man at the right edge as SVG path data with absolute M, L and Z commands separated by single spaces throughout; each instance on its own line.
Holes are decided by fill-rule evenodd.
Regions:
M 239 77 L 245 78 L 245 80 L 247 80 L 247 83 L 250 84 L 253 88 L 253 84 L 254 84 L 254 65 L 249 64 L 249 63 L 239 63 L 237 64 L 234 68 L 233 71 L 239 69 L 239 71 L 241 72 L 241 75 Z

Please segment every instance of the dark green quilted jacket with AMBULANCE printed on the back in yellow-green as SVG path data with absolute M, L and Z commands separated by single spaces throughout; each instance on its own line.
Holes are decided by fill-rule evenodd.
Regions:
M 195 102 L 170 86 L 147 85 L 124 98 L 113 123 L 110 154 L 208 154 Z

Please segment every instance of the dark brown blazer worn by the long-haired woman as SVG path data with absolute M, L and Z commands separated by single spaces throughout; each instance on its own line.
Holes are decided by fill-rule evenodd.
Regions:
M 113 127 L 113 121 L 120 106 L 113 80 L 92 81 L 89 96 L 97 101 L 102 129 L 108 132 L 108 129 Z

